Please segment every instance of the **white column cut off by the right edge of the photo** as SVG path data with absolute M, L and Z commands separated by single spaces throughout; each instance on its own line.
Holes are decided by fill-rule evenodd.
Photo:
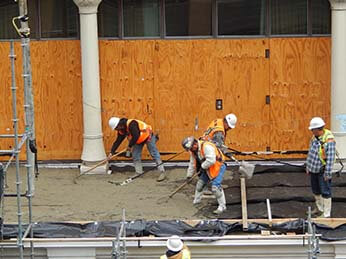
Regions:
M 346 0 L 329 0 L 332 10 L 331 130 L 346 158 Z

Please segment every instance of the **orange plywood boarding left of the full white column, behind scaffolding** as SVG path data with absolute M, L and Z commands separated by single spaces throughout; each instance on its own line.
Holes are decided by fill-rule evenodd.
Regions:
M 31 42 L 31 64 L 38 159 L 79 159 L 82 149 L 82 83 L 78 41 Z M 15 43 L 19 131 L 24 130 L 22 52 Z M 0 134 L 12 133 L 9 43 L 0 43 Z M 6 129 L 10 129 L 7 131 Z M 0 139 L 1 149 L 13 145 Z M 21 158 L 24 158 L 21 156 Z

